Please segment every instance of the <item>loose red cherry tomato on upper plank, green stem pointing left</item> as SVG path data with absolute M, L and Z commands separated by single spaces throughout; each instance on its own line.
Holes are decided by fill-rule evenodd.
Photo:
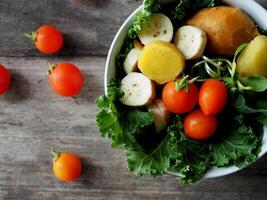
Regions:
M 31 35 L 27 35 L 39 51 L 45 54 L 58 52 L 63 46 L 63 36 L 61 32 L 53 26 L 43 25 Z

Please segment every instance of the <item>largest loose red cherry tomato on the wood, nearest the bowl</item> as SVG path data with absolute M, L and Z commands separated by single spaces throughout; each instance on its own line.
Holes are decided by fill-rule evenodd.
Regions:
M 82 89 L 83 75 L 75 65 L 60 63 L 50 70 L 49 82 L 56 93 L 62 96 L 75 96 Z

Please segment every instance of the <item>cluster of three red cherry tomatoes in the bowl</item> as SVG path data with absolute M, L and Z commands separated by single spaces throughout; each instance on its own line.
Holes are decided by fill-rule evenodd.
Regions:
M 188 80 L 184 87 L 177 89 L 179 81 L 170 81 L 164 86 L 162 100 L 166 108 L 176 114 L 188 113 L 199 104 L 200 108 L 185 116 L 184 132 L 192 139 L 208 139 L 217 128 L 216 114 L 227 103 L 227 87 L 219 80 L 209 79 L 202 84 L 200 90 Z

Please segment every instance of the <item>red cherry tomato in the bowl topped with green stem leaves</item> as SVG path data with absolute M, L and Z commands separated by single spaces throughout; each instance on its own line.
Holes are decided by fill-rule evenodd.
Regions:
M 176 91 L 175 83 L 168 82 L 162 92 L 162 100 L 168 111 L 181 114 L 194 109 L 198 102 L 198 89 L 194 83 L 189 84 L 189 90 L 184 88 Z

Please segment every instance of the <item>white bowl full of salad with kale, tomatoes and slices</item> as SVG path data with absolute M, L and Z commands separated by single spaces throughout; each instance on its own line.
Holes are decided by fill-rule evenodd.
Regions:
M 144 0 L 119 30 L 96 121 L 134 174 L 189 184 L 267 151 L 267 12 L 244 2 Z

